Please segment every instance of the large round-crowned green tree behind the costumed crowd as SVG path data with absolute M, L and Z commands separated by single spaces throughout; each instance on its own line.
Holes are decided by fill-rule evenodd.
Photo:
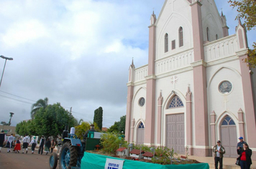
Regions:
M 37 135 L 45 135 L 46 137 L 57 137 L 63 132 L 66 125 L 70 124 L 70 126 L 75 127 L 78 123 L 68 110 L 60 106 L 60 103 L 47 105 L 45 109 L 38 110 L 33 121 Z

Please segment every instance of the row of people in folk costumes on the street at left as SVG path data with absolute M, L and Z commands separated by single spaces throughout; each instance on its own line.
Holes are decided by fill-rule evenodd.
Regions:
M 31 147 L 31 153 L 35 153 L 35 148 L 37 147 L 37 137 L 29 137 L 29 135 L 24 135 L 23 139 L 21 137 L 17 137 L 17 139 L 14 137 L 14 135 L 10 135 L 8 138 L 6 138 L 6 134 L 4 133 L 4 130 L 0 133 L 0 153 L 1 148 L 4 146 L 4 142 L 6 142 L 5 147 L 7 148 L 7 153 L 19 153 L 19 151 L 22 150 L 22 153 L 27 154 L 28 147 Z M 14 145 L 15 143 L 15 145 Z M 14 145 L 14 148 L 12 149 Z M 53 149 L 56 146 L 56 142 L 54 139 L 50 140 L 50 137 L 47 139 L 42 135 L 40 138 L 39 143 L 39 150 L 38 154 L 41 154 L 45 151 L 46 155 L 48 153 L 52 153 Z M 61 144 L 58 143 L 58 152 L 60 150 Z

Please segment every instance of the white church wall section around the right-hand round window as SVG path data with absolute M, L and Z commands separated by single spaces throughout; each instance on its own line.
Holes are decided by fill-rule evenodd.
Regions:
M 220 140 L 219 126 L 224 114 L 227 113 L 237 127 L 239 127 L 238 111 L 241 108 L 244 110 L 244 97 L 242 93 L 242 77 L 239 73 L 239 60 L 218 64 L 207 68 L 208 80 L 208 102 L 209 102 L 209 117 L 211 112 L 216 113 L 216 140 Z M 229 94 L 219 92 L 219 84 L 223 81 L 232 83 L 232 90 Z M 211 133 L 211 135 L 214 133 Z M 239 135 L 239 130 L 237 130 Z M 211 145 L 211 144 L 210 144 Z

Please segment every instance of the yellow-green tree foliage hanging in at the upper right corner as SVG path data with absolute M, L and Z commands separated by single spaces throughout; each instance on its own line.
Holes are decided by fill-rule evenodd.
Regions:
M 247 30 L 255 28 L 256 26 L 256 1 L 255 0 L 242 0 L 242 1 L 232 1 L 229 0 L 230 6 L 233 8 L 237 7 L 239 12 L 236 19 L 244 19 L 244 25 L 247 27 Z M 244 61 L 250 67 L 256 66 L 256 43 L 252 45 L 252 49 L 248 49 L 248 57 Z

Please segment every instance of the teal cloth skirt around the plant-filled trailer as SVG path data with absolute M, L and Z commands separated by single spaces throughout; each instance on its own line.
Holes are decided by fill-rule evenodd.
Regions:
M 184 165 L 160 165 L 154 163 L 145 163 L 134 160 L 125 160 L 120 158 L 113 158 L 106 155 L 98 155 L 93 153 L 84 152 L 83 158 L 81 160 L 81 169 L 104 169 L 106 164 L 106 158 L 111 158 L 114 160 L 124 160 L 123 169 L 209 169 L 208 163 L 199 163 L 199 164 L 184 164 Z

